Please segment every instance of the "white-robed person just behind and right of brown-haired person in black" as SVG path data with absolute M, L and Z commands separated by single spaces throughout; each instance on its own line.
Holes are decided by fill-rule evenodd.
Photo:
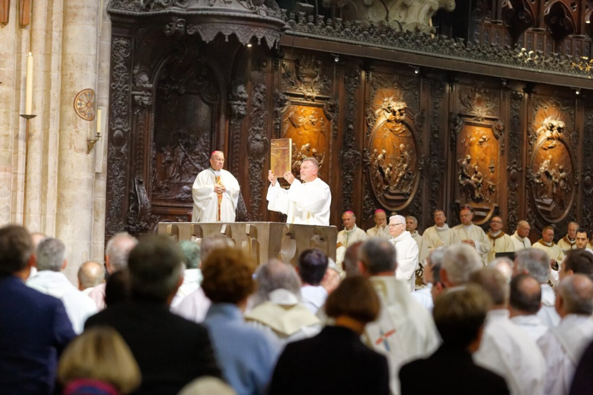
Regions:
M 542 394 L 544 358 L 534 340 L 509 320 L 509 285 L 505 276 L 486 267 L 473 273 L 471 282 L 482 286 L 492 299 L 474 361 L 504 377 L 512 395 Z

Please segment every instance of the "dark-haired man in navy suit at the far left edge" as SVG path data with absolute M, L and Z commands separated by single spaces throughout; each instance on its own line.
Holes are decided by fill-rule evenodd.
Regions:
M 25 285 L 31 236 L 0 229 L 0 393 L 53 394 L 58 356 L 74 338 L 62 301 Z

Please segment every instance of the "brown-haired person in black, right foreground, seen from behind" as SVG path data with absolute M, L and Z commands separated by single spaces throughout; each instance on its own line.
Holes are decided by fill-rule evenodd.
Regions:
M 436 299 L 432 315 L 443 343 L 428 358 L 401 367 L 401 395 L 509 394 L 502 377 L 471 358 L 480 346 L 489 305 L 490 298 L 476 285 L 450 289 Z

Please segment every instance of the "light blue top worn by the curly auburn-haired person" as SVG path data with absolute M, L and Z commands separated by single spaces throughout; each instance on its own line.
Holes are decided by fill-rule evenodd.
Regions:
M 237 305 L 212 304 L 203 324 L 225 380 L 238 395 L 263 395 L 280 349 L 261 330 L 248 326 Z

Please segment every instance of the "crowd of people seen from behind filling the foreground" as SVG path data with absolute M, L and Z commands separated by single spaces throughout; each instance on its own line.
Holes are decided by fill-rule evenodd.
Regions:
M 1 228 L 1 392 L 591 393 L 593 254 L 569 251 L 551 288 L 546 250 L 484 267 L 467 238 L 429 251 L 415 291 L 398 270 L 419 250 L 406 222 L 391 218 L 396 241 L 350 243 L 343 280 L 320 250 L 296 267 L 256 267 L 224 235 L 177 245 L 117 234 L 109 279 L 90 291 L 104 295 L 99 305 L 52 291 L 65 265 L 58 240 L 34 249 L 23 228 Z M 52 265 L 39 265 L 44 256 Z M 85 266 L 81 288 L 96 271 Z M 93 311 L 73 310 L 85 304 L 71 294 Z

